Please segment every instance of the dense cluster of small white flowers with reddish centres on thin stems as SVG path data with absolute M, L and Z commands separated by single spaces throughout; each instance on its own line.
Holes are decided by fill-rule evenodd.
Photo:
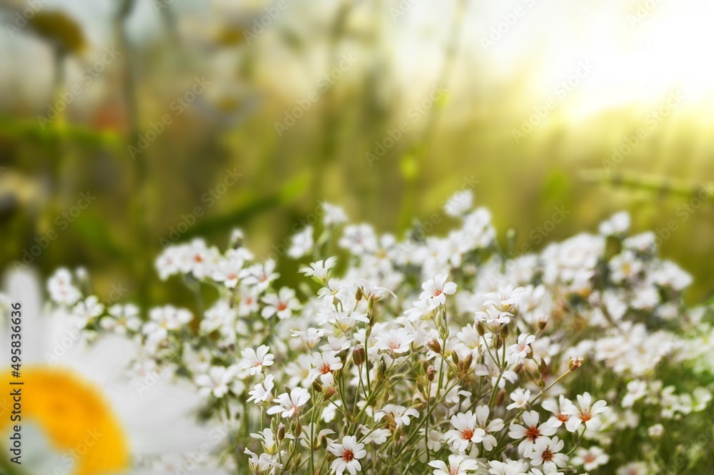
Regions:
M 169 247 L 162 279 L 218 290 L 201 315 L 105 310 L 66 270 L 49 292 L 85 332 L 139 342 L 136 364 L 191 381 L 207 422 L 230 427 L 215 455 L 234 473 L 645 475 L 675 464 L 659 444 L 711 399 L 681 373 L 708 372 L 714 341 L 708 307 L 684 305 L 690 277 L 658 259 L 652 233 L 628 236 L 626 214 L 511 255 L 465 193 L 445 207 L 461 228 L 402 241 L 325 204 L 286 252 L 305 262 L 294 287 L 239 231 L 224 252 Z

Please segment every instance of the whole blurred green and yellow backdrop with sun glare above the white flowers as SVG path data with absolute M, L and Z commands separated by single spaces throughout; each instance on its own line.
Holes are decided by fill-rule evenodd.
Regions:
M 713 294 L 708 4 L 1 3 L 4 269 L 181 303 L 162 240 L 240 227 L 265 256 L 318 200 L 401 236 L 469 188 L 536 249 L 629 210 Z

